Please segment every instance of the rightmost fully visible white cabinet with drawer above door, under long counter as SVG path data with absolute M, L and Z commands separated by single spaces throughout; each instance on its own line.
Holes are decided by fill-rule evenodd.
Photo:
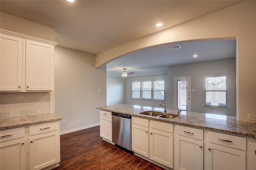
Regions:
M 208 131 L 207 170 L 245 170 L 246 138 Z

